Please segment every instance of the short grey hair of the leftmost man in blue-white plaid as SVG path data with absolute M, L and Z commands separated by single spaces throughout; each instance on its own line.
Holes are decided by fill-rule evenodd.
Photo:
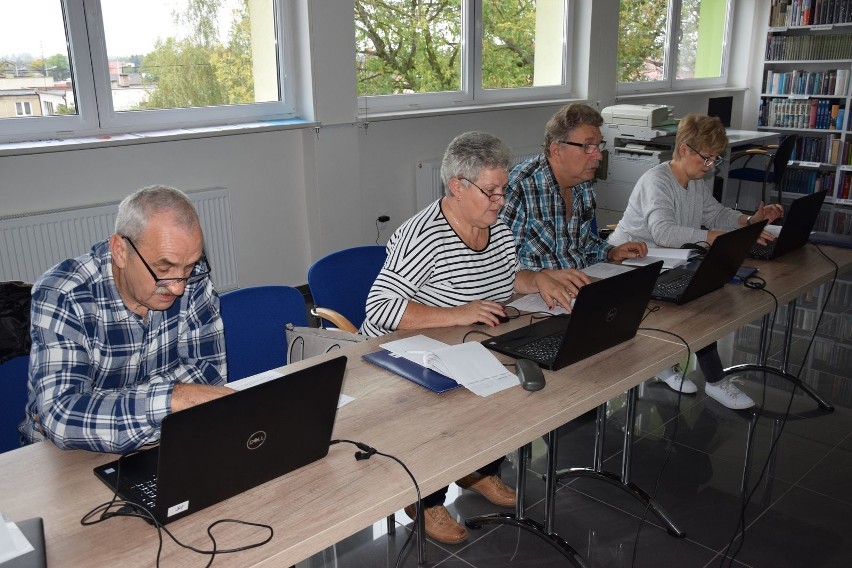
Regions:
M 184 192 L 166 185 L 151 185 L 128 195 L 118 205 L 115 232 L 136 241 L 151 217 L 164 211 L 173 213 L 178 226 L 187 231 L 201 226 L 195 206 Z

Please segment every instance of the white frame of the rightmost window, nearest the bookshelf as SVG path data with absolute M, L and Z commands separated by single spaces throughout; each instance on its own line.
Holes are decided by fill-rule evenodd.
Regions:
M 621 9 L 619 1 L 619 10 Z M 678 92 L 700 89 L 712 89 L 728 86 L 730 75 L 731 37 L 733 35 L 734 4 L 736 0 L 726 0 L 725 37 L 722 45 L 722 70 L 718 77 L 702 77 L 699 79 L 677 79 L 678 38 L 680 36 L 681 7 L 684 0 L 668 0 L 668 15 L 666 16 L 666 53 L 665 76 L 662 81 L 635 81 L 616 83 L 616 94 L 632 95 L 655 92 Z M 616 48 L 616 57 L 618 56 Z

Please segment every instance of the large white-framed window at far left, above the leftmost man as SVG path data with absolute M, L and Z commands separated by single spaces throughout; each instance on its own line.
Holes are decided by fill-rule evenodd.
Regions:
M 34 89 L 58 104 L 26 120 L 0 105 L 0 139 L 292 117 L 287 1 L 16 3 L 0 35 L 0 100 Z

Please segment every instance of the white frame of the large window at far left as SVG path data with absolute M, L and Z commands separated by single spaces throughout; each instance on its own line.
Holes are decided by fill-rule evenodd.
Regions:
M 62 0 L 76 115 L 0 119 L 0 142 L 33 137 L 97 136 L 159 129 L 230 125 L 296 117 L 293 83 L 293 0 L 272 0 L 277 34 L 279 98 L 218 107 L 115 111 L 109 80 L 101 0 Z M 100 62 L 96 64 L 95 62 Z

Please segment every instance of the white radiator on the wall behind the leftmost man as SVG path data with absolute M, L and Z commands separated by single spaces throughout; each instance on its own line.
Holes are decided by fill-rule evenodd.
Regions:
M 220 292 L 238 287 L 231 196 L 224 188 L 187 192 L 204 230 Z M 35 282 L 48 268 L 87 253 L 115 230 L 118 202 L 0 217 L 0 281 Z

